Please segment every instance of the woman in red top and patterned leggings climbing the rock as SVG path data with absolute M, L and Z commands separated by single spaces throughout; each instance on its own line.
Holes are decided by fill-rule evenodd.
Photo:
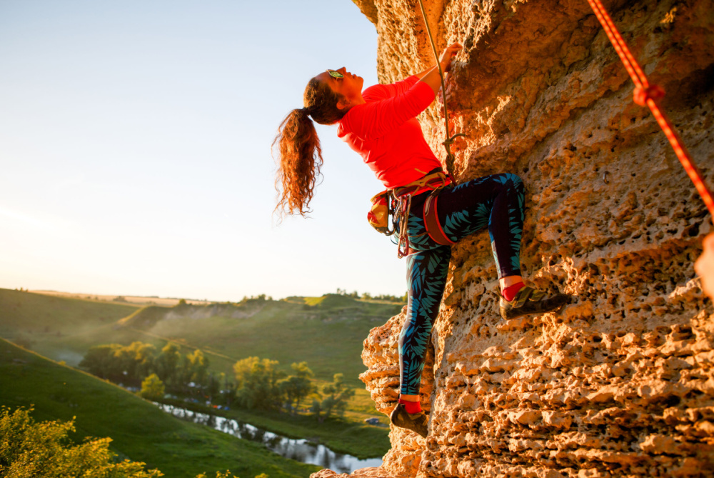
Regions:
M 453 44 L 443 51 L 439 59 L 443 71 L 448 71 L 460 49 L 460 44 Z M 364 91 L 362 86 L 363 79 L 345 68 L 326 70 L 308 81 L 304 107 L 286 116 L 273 142 L 279 153 L 276 210 L 301 215 L 308 211 L 323 162 L 312 121 L 337 124 L 338 136 L 361 154 L 398 198 L 398 209 L 404 211 L 401 221 L 406 218 L 400 249 L 408 254 L 408 304 L 399 337 L 400 397 L 391 422 L 426 437 L 428 419 L 421 410 L 419 384 L 451 258 L 451 247 L 442 244 L 453 244 L 488 226 L 504 319 L 553 311 L 568 302 L 568 296 L 546 297 L 545 292 L 523 284 L 520 177 L 493 174 L 444 187 L 451 179 L 442 172 L 416 120 L 441 87 L 438 68 L 432 66 L 394 84 Z

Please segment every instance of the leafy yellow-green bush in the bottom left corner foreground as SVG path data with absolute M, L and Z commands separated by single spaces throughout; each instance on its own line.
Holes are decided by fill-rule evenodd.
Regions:
M 35 422 L 32 409 L 0 409 L 0 475 L 16 478 L 107 477 L 158 478 L 144 463 L 116 461 L 111 438 L 74 444 L 67 436 L 74 422 Z

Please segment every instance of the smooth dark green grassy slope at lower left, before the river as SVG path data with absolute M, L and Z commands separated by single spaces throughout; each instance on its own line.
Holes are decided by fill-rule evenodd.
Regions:
M 0 404 L 34 404 L 37 420 L 76 417 L 77 437 L 111 437 L 113 448 L 168 477 L 307 477 L 318 467 L 268 452 L 259 444 L 181 422 L 153 404 L 89 374 L 51 362 L 0 340 Z

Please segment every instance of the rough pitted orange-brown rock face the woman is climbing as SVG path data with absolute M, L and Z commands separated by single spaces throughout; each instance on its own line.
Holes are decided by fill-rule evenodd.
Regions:
M 433 64 L 418 1 L 353 1 L 382 82 Z M 714 315 L 693 270 L 711 218 L 587 1 L 424 3 L 439 51 L 464 45 L 446 82 L 458 180 L 523 177 L 523 275 L 575 302 L 503 322 L 488 234 L 456 244 L 421 389 L 429 437 L 392 429 L 383 466 L 353 477 L 714 476 Z M 714 2 L 605 6 L 714 184 Z M 420 119 L 443 159 L 439 109 Z M 385 413 L 403 318 L 365 340 Z

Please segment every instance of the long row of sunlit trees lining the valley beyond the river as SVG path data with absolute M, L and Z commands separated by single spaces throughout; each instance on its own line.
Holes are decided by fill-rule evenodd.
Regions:
M 140 393 L 148 399 L 162 399 L 169 393 L 211 404 L 293 414 L 310 403 L 309 411 L 320 422 L 332 415 L 342 416 L 354 396 L 343 374 L 335 374 L 331 383 L 316 387 L 307 362 L 293 363 L 293 373 L 288 375 L 278 368 L 277 360 L 248 357 L 233 364 L 233 377 L 211 372 L 209 365 L 200 349 L 182 354 L 181 347 L 173 342 L 160 351 L 144 342 L 99 345 L 91 347 L 79 364 L 111 382 L 137 388 L 141 385 Z

